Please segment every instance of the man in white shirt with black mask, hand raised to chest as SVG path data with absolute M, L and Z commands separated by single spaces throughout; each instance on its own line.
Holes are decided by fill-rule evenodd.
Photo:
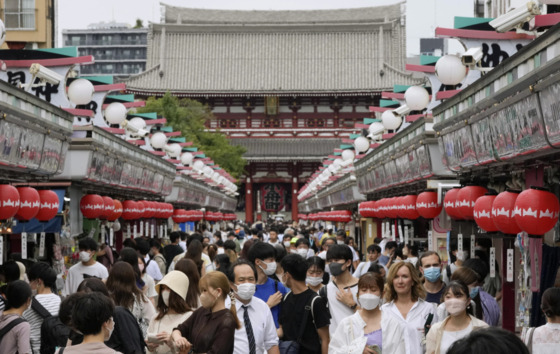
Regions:
M 331 313 L 329 332 L 334 335 L 340 321 L 351 316 L 358 307 L 358 279 L 350 273 L 352 251 L 348 245 L 332 245 L 327 251 L 331 281 L 319 290 L 328 301 Z

